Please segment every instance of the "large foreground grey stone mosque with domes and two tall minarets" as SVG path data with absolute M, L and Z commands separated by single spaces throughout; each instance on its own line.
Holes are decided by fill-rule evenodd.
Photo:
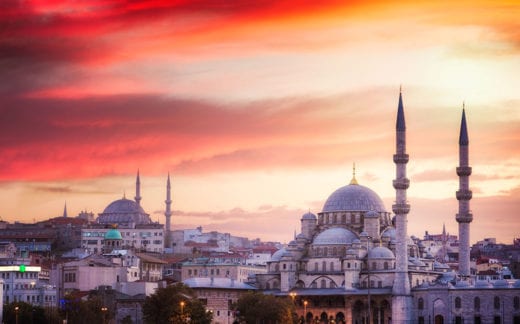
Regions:
M 470 275 L 469 138 L 463 109 L 459 136 L 459 269 L 453 272 L 407 234 L 406 124 L 402 94 L 396 121 L 395 204 L 355 178 L 334 191 L 301 233 L 256 275 L 265 293 L 288 296 L 305 323 L 520 324 L 520 280 Z

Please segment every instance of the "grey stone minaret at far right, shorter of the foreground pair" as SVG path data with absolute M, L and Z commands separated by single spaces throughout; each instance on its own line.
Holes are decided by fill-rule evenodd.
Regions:
M 473 220 L 473 215 L 469 209 L 469 201 L 472 197 L 469 190 L 469 176 L 471 175 L 471 167 L 469 166 L 469 139 L 468 129 L 466 126 L 466 112 L 464 105 L 462 107 L 462 120 L 460 122 L 459 135 L 459 166 L 457 167 L 457 175 L 459 176 L 459 190 L 457 191 L 457 200 L 459 201 L 459 213 L 456 220 L 459 223 L 459 274 L 462 277 L 470 275 L 469 268 L 469 223 Z

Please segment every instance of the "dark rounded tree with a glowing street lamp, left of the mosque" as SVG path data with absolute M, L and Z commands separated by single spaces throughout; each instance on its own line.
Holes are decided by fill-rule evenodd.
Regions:
M 195 292 L 178 283 L 159 288 L 146 297 L 143 304 L 143 318 L 146 323 L 187 323 L 209 324 L 213 318 Z

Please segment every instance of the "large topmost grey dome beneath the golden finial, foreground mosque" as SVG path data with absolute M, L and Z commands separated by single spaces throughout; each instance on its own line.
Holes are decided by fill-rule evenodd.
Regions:
M 323 212 L 335 211 L 386 212 L 381 198 L 372 189 L 358 184 L 341 187 L 329 196 Z

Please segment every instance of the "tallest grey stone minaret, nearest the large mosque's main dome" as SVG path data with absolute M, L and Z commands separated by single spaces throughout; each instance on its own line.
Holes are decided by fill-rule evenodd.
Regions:
M 408 247 L 407 247 L 407 215 L 410 205 L 406 200 L 406 189 L 410 180 L 406 178 L 406 124 L 404 120 L 403 98 L 399 90 L 399 104 L 397 107 L 396 122 L 396 179 L 393 181 L 395 188 L 395 204 L 392 210 L 395 214 L 396 227 L 396 270 L 394 286 L 392 289 L 392 323 L 412 323 L 412 296 L 410 293 L 410 280 L 408 278 Z

